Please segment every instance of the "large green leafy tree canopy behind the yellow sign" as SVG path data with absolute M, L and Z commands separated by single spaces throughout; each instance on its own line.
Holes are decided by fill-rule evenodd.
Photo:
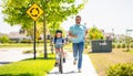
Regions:
M 25 11 L 32 6 L 33 2 L 38 3 L 44 11 L 44 15 L 41 17 L 38 22 L 43 22 L 47 19 L 47 32 L 54 33 L 60 28 L 61 22 L 68 19 L 70 15 L 76 14 L 83 9 L 85 0 L 80 4 L 74 4 L 75 0 L 2 0 L 4 21 L 11 25 L 20 24 L 22 29 L 28 31 L 29 35 L 33 35 L 33 21 L 25 13 Z M 37 29 L 37 33 L 40 35 L 43 28 Z

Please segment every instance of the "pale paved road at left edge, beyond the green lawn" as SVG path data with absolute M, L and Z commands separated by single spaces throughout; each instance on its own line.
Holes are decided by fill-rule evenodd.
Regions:
M 0 50 L 0 65 L 18 62 L 24 58 L 33 57 L 33 54 L 23 54 L 22 50 Z

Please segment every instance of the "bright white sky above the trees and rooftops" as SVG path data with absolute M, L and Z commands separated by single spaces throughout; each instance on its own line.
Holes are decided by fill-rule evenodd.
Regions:
M 81 1 L 76 0 L 76 4 Z M 0 32 L 19 31 L 20 26 L 10 26 L 3 22 L 1 10 L 0 7 Z M 133 0 L 89 0 L 79 14 L 82 17 L 82 24 L 86 23 L 88 28 L 95 25 L 105 32 L 116 34 L 125 34 L 126 29 L 133 30 Z M 68 31 L 73 24 L 74 19 L 68 18 L 62 26 Z M 133 35 L 133 32 L 131 35 Z

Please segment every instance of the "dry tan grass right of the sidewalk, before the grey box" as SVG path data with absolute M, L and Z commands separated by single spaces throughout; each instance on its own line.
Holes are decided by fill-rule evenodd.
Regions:
M 99 76 L 106 76 L 111 65 L 133 62 L 133 50 L 125 52 L 124 48 L 114 48 L 112 53 L 90 53 L 89 56 Z

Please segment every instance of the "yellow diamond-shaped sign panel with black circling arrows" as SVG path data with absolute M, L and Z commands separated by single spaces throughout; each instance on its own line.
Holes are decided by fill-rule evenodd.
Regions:
M 27 14 L 29 14 L 34 21 L 43 14 L 43 10 L 37 4 L 33 3 L 28 10 Z

